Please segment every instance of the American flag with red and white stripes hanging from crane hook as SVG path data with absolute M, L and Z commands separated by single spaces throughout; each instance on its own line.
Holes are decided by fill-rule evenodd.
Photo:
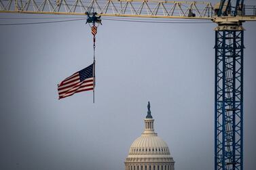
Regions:
M 58 84 L 59 99 L 66 98 L 74 93 L 94 89 L 94 64 L 75 72 Z

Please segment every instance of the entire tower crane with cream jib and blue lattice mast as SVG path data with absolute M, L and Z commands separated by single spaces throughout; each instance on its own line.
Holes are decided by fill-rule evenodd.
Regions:
M 93 10 L 93 11 L 92 11 Z M 215 28 L 215 170 L 243 169 L 242 23 L 256 21 L 256 6 L 244 0 L 211 2 L 163 0 L 0 0 L 0 13 L 62 14 L 134 18 L 211 20 Z

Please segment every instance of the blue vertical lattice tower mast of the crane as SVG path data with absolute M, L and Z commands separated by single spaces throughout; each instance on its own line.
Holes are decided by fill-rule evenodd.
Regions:
M 215 36 L 215 170 L 242 170 L 244 31 Z

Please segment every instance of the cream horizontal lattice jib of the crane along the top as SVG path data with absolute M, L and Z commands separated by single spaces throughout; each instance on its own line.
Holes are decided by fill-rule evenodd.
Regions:
M 2 13 L 129 16 L 145 18 L 213 18 L 210 2 L 147 0 L 0 0 Z

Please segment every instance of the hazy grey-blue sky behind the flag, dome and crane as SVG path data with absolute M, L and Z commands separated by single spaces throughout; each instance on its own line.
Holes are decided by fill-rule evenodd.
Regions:
M 45 16 L 0 15 L 18 17 Z M 124 169 L 148 100 L 175 169 L 213 169 L 215 26 L 103 20 L 95 104 L 92 91 L 63 100 L 57 92 L 60 81 L 92 64 L 85 21 L 0 26 L 0 169 Z M 244 169 L 253 170 L 256 22 L 244 28 Z

